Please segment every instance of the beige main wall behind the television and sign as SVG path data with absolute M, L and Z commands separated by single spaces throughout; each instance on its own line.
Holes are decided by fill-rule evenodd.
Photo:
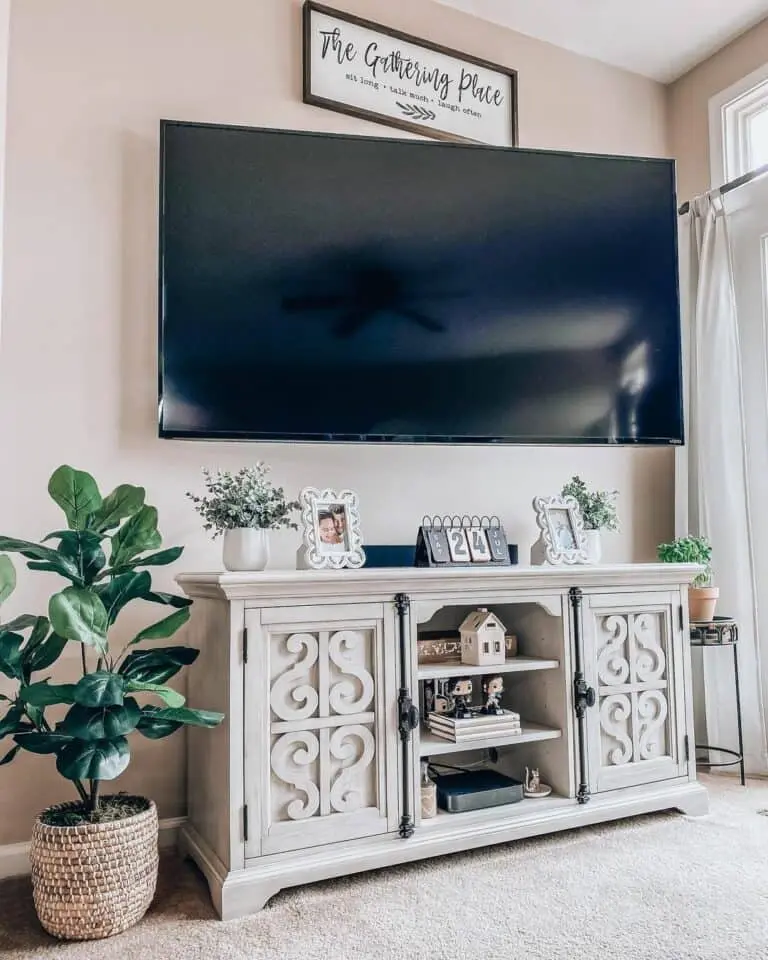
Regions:
M 664 89 L 429 0 L 344 7 L 519 70 L 525 146 L 668 155 Z M 667 450 L 237 446 L 156 438 L 158 120 L 390 134 L 301 103 L 297 0 L 19 0 L 11 34 L 0 529 L 37 538 L 59 523 L 51 471 L 69 462 L 104 487 L 144 484 L 185 569 L 219 567 L 184 491 L 202 464 L 264 458 L 289 490 L 360 493 L 369 542 L 412 542 L 426 511 L 497 512 L 527 553 L 531 499 L 573 472 L 621 491 L 607 559 L 647 560 L 672 531 Z M 269 398 L 265 398 L 269 402 Z M 276 565 L 293 561 L 281 535 Z M 41 609 L 54 581 L 23 577 L 8 613 Z M 141 614 L 124 615 L 123 631 Z M 74 670 L 68 661 L 62 669 Z M 205 704 L 198 704 L 205 706 Z M 184 811 L 183 742 L 135 738 L 119 781 Z M 46 758 L 0 769 L 0 844 L 70 795 Z

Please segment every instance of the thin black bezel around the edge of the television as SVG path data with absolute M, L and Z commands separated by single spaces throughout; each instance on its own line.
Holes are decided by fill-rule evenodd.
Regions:
M 672 172 L 672 202 L 669 215 L 673 223 L 674 235 L 674 258 L 675 258 L 675 299 L 677 302 L 677 370 L 679 391 L 679 405 L 677 413 L 680 421 L 680 436 L 677 437 L 643 437 L 636 439 L 633 437 L 524 437 L 516 439 L 514 437 L 496 437 L 496 436 L 434 436 L 432 434 L 425 436 L 416 435 L 387 435 L 387 434 L 339 434 L 339 433 L 278 433 L 258 430 L 237 431 L 237 430 L 176 430 L 169 429 L 163 425 L 163 403 L 164 403 L 164 384 L 163 384 L 163 353 L 164 353 L 164 314 L 165 314 L 165 296 L 164 296 L 164 252 L 165 252 L 165 147 L 166 132 L 170 127 L 195 127 L 211 130 L 236 130 L 248 133 L 274 134 L 276 136 L 297 136 L 297 137 L 315 137 L 323 140 L 346 140 L 359 141 L 365 140 L 377 143 L 398 144 L 406 149 L 414 147 L 434 147 L 436 150 L 482 150 L 527 153 L 546 156 L 564 156 L 564 157 L 583 157 L 600 160 L 628 160 L 636 163 L 663 164 L 671 167 Z M 631 447 L 665 447 L 665 446 L 683 446 L 685 444 L 685 400 L 684 400 L 684 380 L 683 380 L 683 355 L 682 355 L 682 323 L 681 323 L 681 302 L 680 302 L 680 247 L 677 230 L 677 165 L 676 161 L 664 157 L 637 157 L 625 154 L 597 154 L 581 153 L 575 150 L 544 150 L 531 147 L 502 147 L 491 144 L 459 142 L 450 140 L 428 140 L 426 138 L 410 137 L 381 137 L 369 135 L 356 135 L 346 133 L 325 133 L 315 130 L 289 130 L 279 127 L 253 127 L 247 124 L 235 123 L 210 123 L 202 121 L 187 120 L 168 120 L 160 121 L 160 190 L 159 190 L 159 224 L 158 224 L 158 436 L 164 440 L 208 440 L 208 441 L 238 441 L 238 442 L 258 442 L 258 443 L 304 443 L 304 444 L 397 444 L 397 445 L 416 445 L 416 446 L 505 446 L 505 447 L 540 447 L 540 446 L 631 446 Z

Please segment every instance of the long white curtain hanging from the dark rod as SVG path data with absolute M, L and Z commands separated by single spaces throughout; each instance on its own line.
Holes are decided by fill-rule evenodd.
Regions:
M 689 251 L 688 532 L 709 537 L 714 581 L 720 588 L 718 613 L 739 622 L 747 767 L 765 773 L 768 753 L 753 536 L 762 526 L 755 524 L 754 511 L 765 512 L 766 484 L 763 480 L 762 489 L 750 489 L 743 399 L 749 385 L 742 381 L 728 216 L 717 192 L 691 204 Z M 735 748 L 736 703 L 728 651 L 704 651 L 703 676 L 707 741 Z

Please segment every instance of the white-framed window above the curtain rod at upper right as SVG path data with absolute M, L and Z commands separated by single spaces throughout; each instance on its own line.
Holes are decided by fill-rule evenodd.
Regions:
M 768 163 L 768 66 L 709 102 L 712 186 Z

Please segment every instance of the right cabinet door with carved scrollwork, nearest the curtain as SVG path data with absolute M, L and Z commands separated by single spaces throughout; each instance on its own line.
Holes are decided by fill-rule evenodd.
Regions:
M 679 596 L 588 596 L 583 615 L 591 791 L 686 776 Z

